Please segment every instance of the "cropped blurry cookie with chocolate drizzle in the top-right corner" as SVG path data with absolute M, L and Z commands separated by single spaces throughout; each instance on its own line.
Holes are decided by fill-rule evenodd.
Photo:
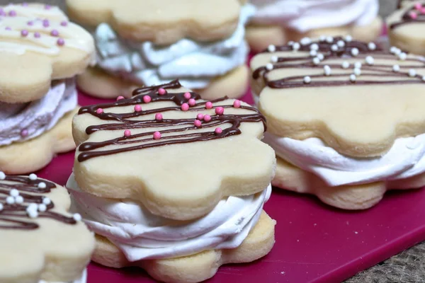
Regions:
M 425 1 L 411 1 L 387 18 L 390 43 L 405 52 L 425 55 Z

